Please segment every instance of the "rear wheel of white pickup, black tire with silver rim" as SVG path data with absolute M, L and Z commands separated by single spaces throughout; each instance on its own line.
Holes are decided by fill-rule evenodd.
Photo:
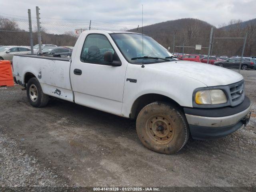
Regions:
M 28 80 L 26 90 L 28 101 L 32 106 L 44 107 L 47 105 L 49 96 L 43 93 L 42 87 L 36 78 Z

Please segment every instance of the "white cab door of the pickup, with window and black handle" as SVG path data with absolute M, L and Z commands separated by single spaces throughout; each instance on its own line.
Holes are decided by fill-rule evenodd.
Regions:
M 77 49 L 70 68 L 75 103 L 121 115 L 128 63 L 114 54 L 118 48 L 107 34 L 88 34 L 80 40 L 83 45 Z M 106 52 L 116 55 L 122 65 L 110 66 L 104 61 Z

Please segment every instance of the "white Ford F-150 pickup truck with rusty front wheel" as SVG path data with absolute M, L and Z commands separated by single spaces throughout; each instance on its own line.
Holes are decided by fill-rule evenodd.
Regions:
M 54 96 L 135 119 L 141 142 L 160 153 L 178 152 L 190 135 L 226 136 L 250 118 L 242 75 L 178 60 L 142 34 L 85 31 L 71 59 L 15 55 L 13 69 L 32 106 Z

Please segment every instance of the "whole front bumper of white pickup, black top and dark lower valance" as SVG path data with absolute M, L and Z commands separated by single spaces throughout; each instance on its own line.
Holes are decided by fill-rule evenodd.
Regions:
M 235 107 L 214 109 L 184 108 L 192 138 L 199 140 L 226 136 L 248 122 L 250 99 Z

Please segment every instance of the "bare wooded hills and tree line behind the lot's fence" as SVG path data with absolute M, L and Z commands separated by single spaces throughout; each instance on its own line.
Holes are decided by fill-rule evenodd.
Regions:
M 242 21 L 232 20 L 228 24 L 222 24 L 216 28 L 207 22 L 187 18 L 145 26 L 143 33 L 154 38 L 165 48 L 169 47 L 170 52 L 173 52 L 174 45 L 174 52 L 208 54 L 211 27 L 214 28 L 212 55 L 240 56 L 244 44 L 242 38 L 247 33 L 244 56 L 256 56 L 256 23 L 244 26 Z M 128 30 L 127 28 L 124 29 Z M 141 33 L 142 28 L 129 31 Z M 175 31 L 176 34 L 174 35 Z M 33 42 L 37 44 L 37 32 L 34 31 L 32 34 Z M 74 46 L 77 40 L 77 36 L 72 31 L 63 32 L 63 34 L 50 34 L 44 28 L 42 28 L 41 37 L 43 44 L 55 44 L 57 46 Z M 228 38 L 218 39 L 219 37 Z M 202 45 L 202 49 L 195 50 L 196 44 Z M 29 33 L 26 30 L 21 30 L 17 21 L 0 18 L 0 45 L 29 46 Z

